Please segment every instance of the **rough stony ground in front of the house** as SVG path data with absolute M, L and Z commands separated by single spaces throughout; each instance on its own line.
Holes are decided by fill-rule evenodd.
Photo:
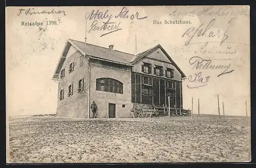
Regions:
M 248 118 L 11 118 L 9 134 L 16 163 L 250 161 Z

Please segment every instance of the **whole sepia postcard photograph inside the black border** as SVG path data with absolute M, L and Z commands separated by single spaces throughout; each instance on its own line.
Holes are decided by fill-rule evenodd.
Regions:
M 249 6 L 6 7 L 7 163 L 250 162 Z

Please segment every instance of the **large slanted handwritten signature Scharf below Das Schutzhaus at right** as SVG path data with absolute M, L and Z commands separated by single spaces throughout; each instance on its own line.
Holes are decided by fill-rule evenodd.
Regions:
M 212 19 L 209 24 L 205 27 L 205 29 L 202 28 L 202 26 L 204 25 L 204 23 L 202 23 L 198 28 L 196 27 L 190 27 L 183 35 L 182 37 L 188 37 L 188 40 L 185 42 L 185 45 L 190 44 L 191 40 L 194 39 L 195 37 L 209 37 L 209 38 L 213 38 L 213 37 L 218 37 L 218 38 L 222 38 L 220 45 L 225 42 L 225 40 L 227 40 L 228 36 L 227 36 L 227 32 L 230 29 L 230 27 L 233 25 L 234 20 L 236 20 L 237 17 L 234 17 L 232 19 L 230 19 L 228 21 L 228 27 L 227 30 L 221 34 L 221 30 L 218 29 L 218 31 L 209 31 L 211 26 L 214 25 L 216 19 Z

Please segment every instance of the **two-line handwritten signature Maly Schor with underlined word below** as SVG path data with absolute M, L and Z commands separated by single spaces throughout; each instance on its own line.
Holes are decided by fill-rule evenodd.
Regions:
M 88 31 L 88 33 L 90 33 L 91 31 L 108 31 L 105 34 L 102 34 L 100 37 L 111 34 L 113 32 L 117 32 L 122 30 L 119 26 L 121 24 L 121 21 L 119 22 L 111 22 L 111 19 L 113 18 L 112 14 L 108 14 L 109 10 L 106 10 L 104 12 L 100 11 L 100 10 L 92 10 L 91 12 L 87 12 L 85 15 L 86 19 L 92 20 L 94 19 L 94 21 L 91 24 L 91 28 Z M 122 10 L 115 15 L 115 18 L 122 18 L 122 19 L 145 19 L 147 18 L 147 16 L 144 17 L 140 17 L 139 16 L 139 12 L 136 12 L 136 14 L 132 14 L 129 15 L 129 10 L 127 10 L 126 7 L 123 7 Z M 99 25 L 98 20 L 100 19 L 108 19 L 107 21 L 103 21 L 102 25 Z

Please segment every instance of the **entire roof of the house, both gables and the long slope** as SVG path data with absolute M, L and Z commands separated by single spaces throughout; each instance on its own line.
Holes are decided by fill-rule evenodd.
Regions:
M 100 47 L 93 44 L 88 44 L 76 40 L 68 39 L 65 45 L 64 50 L 62 51 L 61 57 L 58 61 L 58 65 L 56 67 L 55 73 L 52 77 L 52 79 L 57 80 L 59 72 L 62 68 L 62 65 L 64 64 L 66 60 L 67 53 L 70 49 L 70 47 L 73 46 L 76 48 L 79 52 L 81 52 L 83 55 L 93 58 L 93 59 L 99 59 L 103 61 L 113 62 L 117 64 L 122 64 L 126 66 L 133 66 L 136 62 L 138 62 L 143 57 L 146 57 L 146 55 L 154 52 L 156 49 L 160 48 L 166 57 L 170 60 L 170 62 L 178 69 L 178 71 L 181 73 L 181 77 L 186 77 L 185 74 L 180 70 L 180 68 L 175 64 L 175 62 L 169 57 L 167 52 L 162 48 L 160 44 L 157 46 L 150 48 L 142 53 L 139 53 L 138 55 L 113 50 L 110 48 Z

